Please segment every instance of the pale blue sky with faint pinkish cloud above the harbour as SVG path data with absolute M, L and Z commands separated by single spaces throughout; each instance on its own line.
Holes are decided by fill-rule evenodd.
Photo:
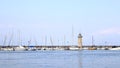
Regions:
M 0 0 L 0 45 L 77 45 L 79 33 L 120 45 L 120 0 Z

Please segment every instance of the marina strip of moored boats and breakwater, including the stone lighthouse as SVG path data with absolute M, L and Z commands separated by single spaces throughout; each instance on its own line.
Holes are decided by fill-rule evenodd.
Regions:
M 36 50 L 120 50 L 119 45 L 83 45 L 83 36 L 78 34 L 78 45 L 12 45 L 0 46 L 0 51 L 36 51 Z M 10 40 L 11 41 L 11 40 Z M 52 40 L 51 40 L 52 41 Z M 5 43 L 4 43 L 5 44 Z

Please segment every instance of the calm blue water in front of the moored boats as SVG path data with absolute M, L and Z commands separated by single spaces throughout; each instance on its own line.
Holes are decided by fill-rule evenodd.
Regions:
M 120 68 L 120 51 L 0 51 L 0 68 Z

